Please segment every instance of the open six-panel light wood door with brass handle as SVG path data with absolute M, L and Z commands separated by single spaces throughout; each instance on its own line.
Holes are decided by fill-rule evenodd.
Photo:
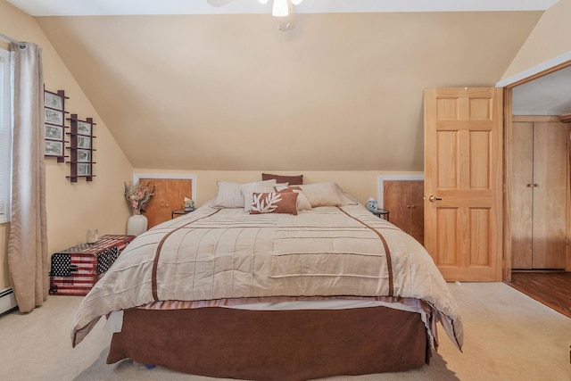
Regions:
M 500 281 L 501 88 L 425 90 L 425 247 L 449 281 Z

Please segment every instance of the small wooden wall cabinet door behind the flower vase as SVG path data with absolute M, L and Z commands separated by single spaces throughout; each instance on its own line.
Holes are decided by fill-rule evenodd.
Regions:
M 140 178 L 139 181 L 154 186 L 154 195 L 144 213 L 149 220 L 148 228 L 171 219 L 172 211 L 183 207 L 185 197 L 193 197 L 190 178 Z

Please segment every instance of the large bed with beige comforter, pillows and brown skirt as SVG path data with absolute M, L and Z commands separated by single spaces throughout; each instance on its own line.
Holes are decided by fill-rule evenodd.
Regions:
M 461 349 L 456 303 L 424 247 L 334 182 L 219 182 L 208 203 L 137 236 L 84 298 L 108 363 L 305 380 L 423 367 L 436 323 Z

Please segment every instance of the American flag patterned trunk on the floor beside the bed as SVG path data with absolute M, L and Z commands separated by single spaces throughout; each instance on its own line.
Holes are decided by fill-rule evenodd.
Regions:
M 106 235 L 52 254 L 50 294 L 87 295 L 135 236 Z

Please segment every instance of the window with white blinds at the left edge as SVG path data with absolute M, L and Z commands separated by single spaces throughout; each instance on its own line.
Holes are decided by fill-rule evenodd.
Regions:
M 0 223 L 10 221 L 12 125 L 10 55 L 0 49 Z

